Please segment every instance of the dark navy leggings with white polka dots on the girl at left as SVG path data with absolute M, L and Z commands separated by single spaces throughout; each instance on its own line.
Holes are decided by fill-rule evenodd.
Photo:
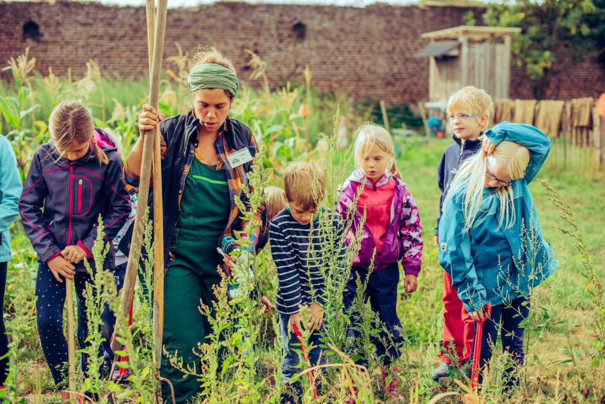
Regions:
M 80 348 L 85 348 L 88 335 L 86 307 L 83 292 L 91 278 L 87 272 L 76 272 L 74 285 L 77 302 L 77 340 Z M 67 388 L 68 358 L 67 340 L 63 334 L 63 309 L 65 305 L 65 280 L 57 282 L 46 264 L 39 264 L 38 279 L 36 279 L 36 311 L 38 333 L 44 357 L 53 374 L 54 383 L 58 388 Z M 76 347 L 77 350 L 77 347 Z M 80 364 L 84 373 L 87 371 L 87 355 L 80 354 Z

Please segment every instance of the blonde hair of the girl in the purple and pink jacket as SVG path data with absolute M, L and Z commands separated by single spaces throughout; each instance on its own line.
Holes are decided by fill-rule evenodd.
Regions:
M 389 171 L 401 180 L 401 174 L 399 174 L 399 170 L 395 163 L 395 146 L 393 145 L 393 138 L 391 138 L 387 129 L 376 125 L 375 123 L 366 122 L 359 126 L 355 131 L 354 155 L 357 168 L 361 169 L 365 156 L 368 155 L 368 152 L 370 152 L 374 145 L 390 155 L 391 167 L 389 168 Z

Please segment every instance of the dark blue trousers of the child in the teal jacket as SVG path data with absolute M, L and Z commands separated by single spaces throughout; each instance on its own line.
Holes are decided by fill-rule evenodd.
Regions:
M 526 302 L 526 303 L 523 303 Z M 520 315 L 519 315 L 520 314 Z M 525 328 L 520 328 L 519 324 L 529 315 L 529 301 L 526 298 L 517 298 L 512 302 L 499 304 L 492 307 L 491 315 L 483 323 L 483 333 L 481 339 L 481 355 L 479 365 L 481 368 L 489 363 L 492 356 L 492 345 L 495 345 L 498 339 L 498 330 L 502 339 L 502 351 L 511 355 L 513 365 L 505 370 L 504 380 L 507 388 L 518 385 L 518 379 L 515 370 L 523 365 L 525 360 L 525 350 L 523 337 Z M 502 326 L 502 327 L 501 327 Z M 477 323 L 475 323 L 477 327 Z M 477 339 L 473 341 L 473 351 L 471 352 L 471 363 L 473 363 L 475 345 Z M 471 370 L 468 370 L 467 376 L 471 377 Z M 479 373 L 479 383 L 483 381 L 482 372 Z

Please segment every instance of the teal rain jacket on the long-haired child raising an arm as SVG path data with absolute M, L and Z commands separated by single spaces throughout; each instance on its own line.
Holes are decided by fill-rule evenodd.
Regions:
M 485 188 L 479 213 L 468 233 L 463 233 L 464 191 L 443 206 L 439 221 L 439 263 L 452 277 L 452 285 L 469 312 L 488 302 L 499 305 L 527 294 L 557 268 L 546 243 L 528 184 L 551 149 L 549 138 L 531 125 L 502 122 L 484 135 L 494 145 L 508 141 L 529 149 L 525 177 L 512 181 L 515 220 L 500 229 L 500 200 L 495 188 Z M 479 151 L 481 152 L 481 151 Z

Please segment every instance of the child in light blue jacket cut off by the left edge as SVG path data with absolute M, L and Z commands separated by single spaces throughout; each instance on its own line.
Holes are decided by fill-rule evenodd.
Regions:
M 0 135 L 0 389 L 8 375 L 8 338 L 4 327 L 4 289 L 6 287 L 7 264 L 11 258 L 8 227 L 19 214 L 19 195 L 22 186 L 13 146 Z

